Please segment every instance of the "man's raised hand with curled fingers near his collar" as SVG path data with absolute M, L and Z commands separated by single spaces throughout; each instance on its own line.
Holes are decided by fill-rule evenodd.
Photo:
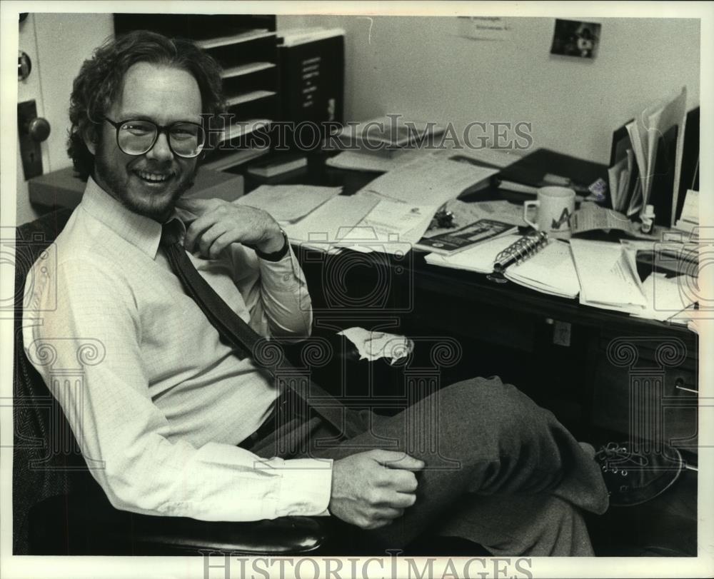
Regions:
M 214 259 L 231 245 L 243 243 L 262 251 L 280 251 L 285 243 L 278 223 L 269 213 L 222 199 L 181 198 L 176 206 L 198 216 L 186 231 L 183 246 Z

